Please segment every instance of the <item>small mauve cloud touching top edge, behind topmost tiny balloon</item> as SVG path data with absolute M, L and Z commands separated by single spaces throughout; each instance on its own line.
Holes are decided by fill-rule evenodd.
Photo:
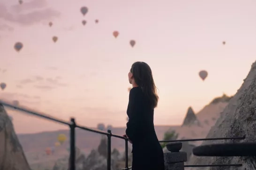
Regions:
M 16 4 L 12 6 L 15 12 L 20 13 L 25 10 L 31 10 L 35 8 L 43 8 L 47 6 L 46 0 L 31 0 L 30 2 L 23 2 L 22 5 Z

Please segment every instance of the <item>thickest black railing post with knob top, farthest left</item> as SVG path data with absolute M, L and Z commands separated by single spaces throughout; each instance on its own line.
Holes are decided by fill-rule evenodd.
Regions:
M 71 118 L 70 125 L 70 164 L 69 170 L 75 170 L 75 119 Z

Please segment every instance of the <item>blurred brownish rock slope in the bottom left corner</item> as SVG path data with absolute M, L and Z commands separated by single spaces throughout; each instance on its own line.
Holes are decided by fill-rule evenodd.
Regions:
M 30 170 L 23 148 L 4 107 L 0 104 L 0 170 Z

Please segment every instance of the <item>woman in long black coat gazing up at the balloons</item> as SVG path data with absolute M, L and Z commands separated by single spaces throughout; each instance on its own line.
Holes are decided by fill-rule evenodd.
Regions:
M 128 73 L 130 90 L 126 135 L 132 143 L 132 170 L 164 170 L 164 153 L 154 128 L 158 95 L 148 64 L 136 62 Z

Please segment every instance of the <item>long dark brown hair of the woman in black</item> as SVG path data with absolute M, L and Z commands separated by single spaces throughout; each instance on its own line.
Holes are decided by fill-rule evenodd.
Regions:
M 157 107 L 159 97 L 150 66 L 145 62 L 135 62 L 130 71 L 135 83 L 142 88 L 143 93 L 149 98 L 151 106 Z

